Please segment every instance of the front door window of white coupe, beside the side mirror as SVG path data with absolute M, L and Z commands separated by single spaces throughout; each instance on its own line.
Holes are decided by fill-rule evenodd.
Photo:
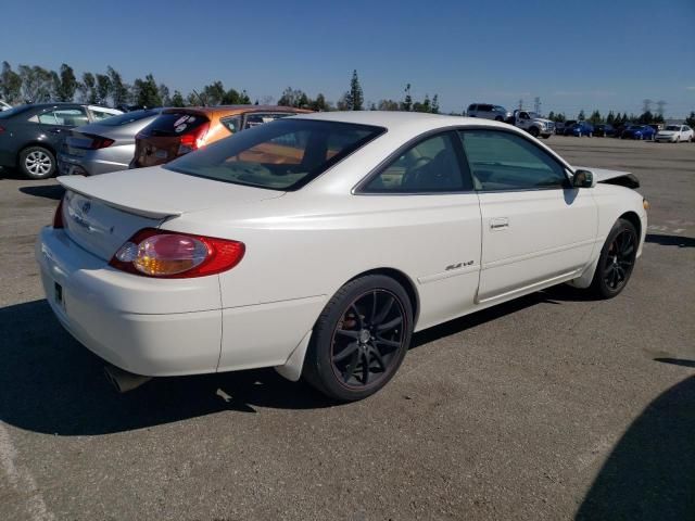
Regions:
M 565 167 L 526 138 L 498 130 L 459 132 L 477 190 L 538 190 L 567 186 Z

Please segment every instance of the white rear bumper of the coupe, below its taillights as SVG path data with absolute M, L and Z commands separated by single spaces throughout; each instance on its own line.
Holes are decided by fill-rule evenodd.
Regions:
M 147 306 L 165 310 L 173 296 L 168 282 L 179 283 L 176 297 L 182 302 L 187 293 L 190 296 L 191 292 L 205 291 L 204 287 L 187 279 L 161 281 L 119 272 L 51 227 L 39 234 L 36 259 L 53 313 L 75 339 L 99 357 L 151 377 L 217 370 L 222 309 L 142 313 L 142 302 L 137 302 L 144 290 Z M 155 282 L 167 284 L 159 290 L 157 285 L 164 284 Z M 132 305 L 128 305 L 129 301 Z

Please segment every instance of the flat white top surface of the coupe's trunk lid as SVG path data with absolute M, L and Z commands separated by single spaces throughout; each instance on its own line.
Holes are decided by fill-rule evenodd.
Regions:
M 62 176 L 63 187 L 128 213 L 164 218 L 216 206 L 239 206 L 280 198 L 285 192 L 244 187 L 153 166 L 101 176 Z

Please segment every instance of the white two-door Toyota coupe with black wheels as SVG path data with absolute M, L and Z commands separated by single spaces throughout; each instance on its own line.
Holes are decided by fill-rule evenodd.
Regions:
M 558 283 L 620 293 L 647 206 L 503 123 L 320 113 L 165 166 L 62 177 L 36 258 L 122 390 L 275 367 L 359 399 L 414 331 Z

